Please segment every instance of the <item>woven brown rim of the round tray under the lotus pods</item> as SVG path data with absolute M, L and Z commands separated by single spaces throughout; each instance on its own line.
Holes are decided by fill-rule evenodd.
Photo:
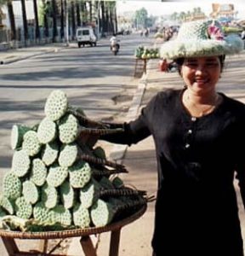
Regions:
M 146 211 L 147 205 L 145 204 L 139 211 L 134 214 L 123 218 L 120 221 L 112 222 L 104 227 L 99 228 L 86 228 L 86 229 L 74 229 L 74 230 L 62 230 L 62 231 L 45 231 L 45 232 L 21 232 L 21 231 L 9 231 L 0 230 L 0 236 L 18 239 L 60 239 L 76 236 L 89 236 L 93 234 L 99 234 L 112 230 L 121 229 L 122 226 L 132 223 L 137 218 L 140 218 Z

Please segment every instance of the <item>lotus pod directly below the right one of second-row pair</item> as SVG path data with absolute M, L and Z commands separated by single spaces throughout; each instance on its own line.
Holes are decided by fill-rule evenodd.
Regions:
M 64 144 L 60 149 L 59 164 L 62 167 L 72 166 L 77 160 L 78 148 L 77 144 Z

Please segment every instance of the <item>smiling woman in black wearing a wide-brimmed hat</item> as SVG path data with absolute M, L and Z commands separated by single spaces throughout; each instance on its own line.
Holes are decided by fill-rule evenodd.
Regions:
M 225 55 L 242 40 L 224 38 L 217 21 L 191 21 L 162 45 L 185 82 L 151 99 L 112 143 L 138 143 L 153 136 L 158 190 L 152 247 L 156 256 L 243 256 L 233 187 L 245 202 L 245 105 L 216 91 Z

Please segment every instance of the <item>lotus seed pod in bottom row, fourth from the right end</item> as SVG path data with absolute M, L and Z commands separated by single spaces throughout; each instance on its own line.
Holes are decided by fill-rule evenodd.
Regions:
M 45 207 L 43 201 L 37 202 L 35 207 L 33 207 L 33 217 L 35 220 L 40 222 L 40 224 L 53 224 L 52 212 Z

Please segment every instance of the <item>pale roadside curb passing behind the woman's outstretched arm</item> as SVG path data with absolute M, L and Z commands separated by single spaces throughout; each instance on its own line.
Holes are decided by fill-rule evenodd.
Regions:
M 151 66 L 151 60 L 148 62 L 148 65 Z M 149 68 L 151 70 L 151 68 Z M 138 87 L 135 91 L 133 100 L 131 102 L 131 106 L 128 109 L 128 113 L 126 116 L 125 121 L 130 121 L 132 119 L 135 119 L 139 113 L 140 109 L 140 103 L 142 102 L 145 89 L 147 86 L 147 77 L 149 70 L 146 70 L 146 73 L 143 73 L 140 82 L 138 84 Z M 122 145 L 122 144 L 115 144 L 115 146 L 111 149 L 111 154 L 109 155 L 109 158 L 111 160 L 116 161 L 119 164 L 122 164 L 122 160 L 127 152 L 128 145 Z

